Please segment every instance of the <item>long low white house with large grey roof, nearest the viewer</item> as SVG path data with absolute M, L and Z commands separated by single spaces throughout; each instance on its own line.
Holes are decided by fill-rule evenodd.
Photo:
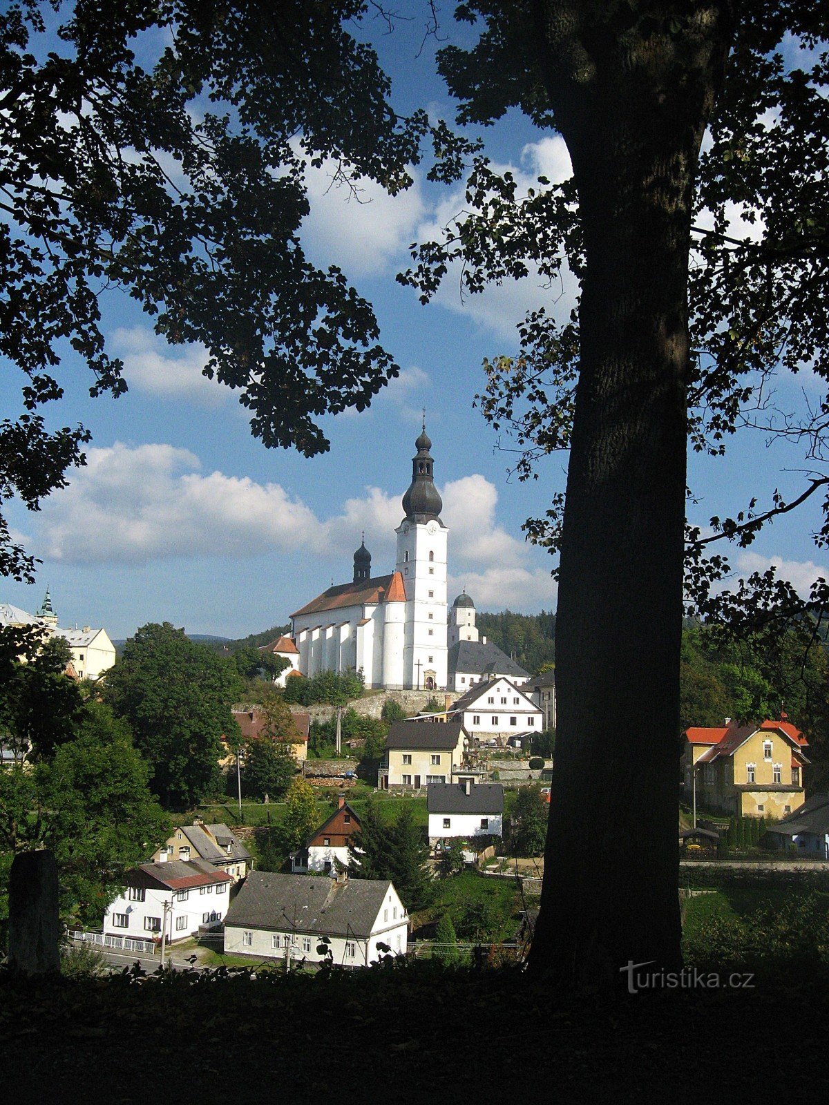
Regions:
M 406 907 L 389 882 L 252 871 L 224 919 L 224 951 L 316 964 L 326 958 L 322 946 L 335 964 L 367 967 L 385 954 L 381 944 L 405 955 L 408 934 Z

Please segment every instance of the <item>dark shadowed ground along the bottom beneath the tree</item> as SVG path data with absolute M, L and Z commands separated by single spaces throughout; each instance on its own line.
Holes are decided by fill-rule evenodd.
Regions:
M 738 1101 L 749 1082 L 769 1101 L 825 1096 L 823 975 L 578 1001 L 514 970 L 430 964 L 328 978 L 3 977 L 3 1082 L 15 1102 Z M 797 1024 L 797 1045 L 753 1048 L 748 1072 L 741 1051 L 769 1024 Z

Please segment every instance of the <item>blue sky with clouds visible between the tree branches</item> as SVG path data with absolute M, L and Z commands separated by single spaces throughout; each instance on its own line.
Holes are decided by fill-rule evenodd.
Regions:
M 410 9 L 422 6 L 400 10 Z M 441 33 L 457 40 L 468 31 L 445 24 Z M 417 56 L 422 21 L 398 23 L 393 35 L 368 24 L 368 34 L 395 81 L 398 109 L 427 104 L 451 118 L 434 74 L 434 41 Z M 563 179 L 568 171 L 560 138 L 517 114 L 483 136 L 493 160 L 512 166 L 527 186 L 539 173 Z M 49 417 L 92 431 L 88 463 L 39 514 L 11 504 L 13 529 L 43 565 L 33 587 L 7 580 L 0 599 L 34 610 L 48 583 L 62 624 L 103 624 L 116 638 L 148 621 L 229 636 L 284 622 L 332 580 L 350 579 L 361 530 L 375 573 L 390 570 L 424 407 L 450 528 L 450 596 L 465 587 L 483 610 L 555 607 L 549 558 L 524 541 L 521 525 L 563 488 L 566 459 L 545 461 L 538 481 L 508 478 L 510 454 L 497 450 L 472 401 L 483 386 L 483 358 L 515 351 L 514 327 L 525 311 L 544 304 L 566 312 L 568 295 L 555 302 L 531 277 L 461 302 L 450 278 L 423 307 L 395 274 L 407 266 L 411 241 L 431 236 L 462 209 L 460 190 L 429 185 L 424 169 L 393 200 L 368 187 L 357 203 L 329 186 L 326 169 L 309 170 L 305 244 L 313 261 L 339 264 L 371 299 L 400 378 L 370 410 L 327 420 L 327 454 L 305 460 L 269 451 L 251 436 L 234 394 L 201 377 L 203 350 L 167 346 L 127 296 L 106 293 L 105 333 L 124 358 L 129 392 L 91 400 L 88 373 L 67 350 L 66 397 Z M 17 415 L 20 381 L 8 366 L 0 370 L 12 385 L 3 388 L 0 415 Z M 798 401 L 798 381 L 786 386 Z M 702 497 L 694 519 L 737 511 L 758 490 L 795 488 L 798 477 L 784 470 L 797 466 L 796 456 L 747 436 L 725 460 L 692 457 Z M 808 537 L 816 522 L 812 513 L 778 525 L 734 562 L 753 570 L 775 560 L 802 586 L 821 567 Z

